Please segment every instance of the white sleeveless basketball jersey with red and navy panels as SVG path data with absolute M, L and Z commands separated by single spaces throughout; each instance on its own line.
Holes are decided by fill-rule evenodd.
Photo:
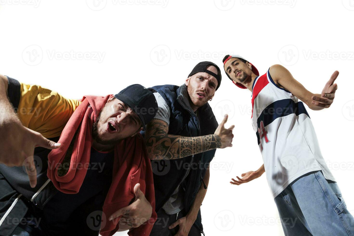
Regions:
M 312 171 L 322 170 L 326 179 L 335 181 L 304 104 L 277 86 L 269 70 L 253 82 L 251 120 L 273 197 Z

